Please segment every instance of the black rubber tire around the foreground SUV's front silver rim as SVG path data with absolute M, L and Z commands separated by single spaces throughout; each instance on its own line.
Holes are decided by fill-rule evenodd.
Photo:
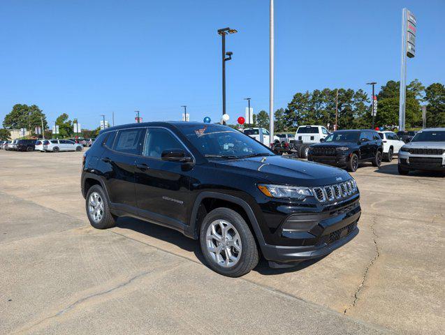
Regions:
M 224 220 L 235 228 L 241 240 L 241 253 L 238 254 L 238 262 L 232 267 L 223 267 L 213 258 L 210 251 L 207 250 L 207 229 L 214 221 Z M 228 277 L 240 277 L 249 273 L 258 264 L 259 255 L 254 235 L 249 225 L 236 211 L 228 208 L 217 208 L 210 211 L 203 219 L 199 234 L 200 248 L 207 265 L 215 272 Z M 230 248 L 230 247 L 229 247 Z M 234 251 L 234 249 L 231 249 Z

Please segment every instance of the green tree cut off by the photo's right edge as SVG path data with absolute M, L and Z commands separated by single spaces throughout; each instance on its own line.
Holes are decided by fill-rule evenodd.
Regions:
M 445 86 L 435 82 L 425 89 L 426 124 L 428 127 L 445 127 Z

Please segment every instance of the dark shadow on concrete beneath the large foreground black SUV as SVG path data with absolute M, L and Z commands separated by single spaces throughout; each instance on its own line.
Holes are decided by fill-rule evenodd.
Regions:
M 153 237 L 154 239 L 159 239 L 161 241 L 166 241 L 170 244 L 174 244 L 175 246 L 179 246 L 185 251 L 193 252 L 196 258 L 198 258 L 198 260 L 203 263 L 203 265 L 207 266 L 203 257 L 203 253 L 201 253 L 200 250 L 199 241 L 190 239 L 189 237 L 184 236 L 176 230 L 130 217 L 119 218 L 117 220 L 117 227 L 140 232 L 141 234 Z M 272 269 L 269 267 L 268 261 L 264 258 L 261 258 L 258 262 L 258 265 L 253 271 L 257 271 L 259 274 L 263 275 L 284 274 L 286 272 L 300 271 L 302 269 L 305 269 L 306 267 L 309 267 L 310 265 L 315 264 L 319 260 L 321 260 L 321 258 L 317 258 L 315 260 L 305 260 L 298 263 L 298 265 L 296 265 L 295 267 L 289 267 L 286 269 Z

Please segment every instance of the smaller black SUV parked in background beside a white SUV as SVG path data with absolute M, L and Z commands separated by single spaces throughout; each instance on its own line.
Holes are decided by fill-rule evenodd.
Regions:
M 335 131 L 322 143 L 312 144 L 307 159 L 354 172 L 360 162 L 371 161 L 372 165 L 379 167 L 383 145 L 377 131 Z

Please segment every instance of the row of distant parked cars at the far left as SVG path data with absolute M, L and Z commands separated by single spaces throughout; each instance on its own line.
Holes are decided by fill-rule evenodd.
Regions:
M 82 151 L 83 145 L 71 140 L 13 140 L 0 142 L 0 149 L 8 151 Z

